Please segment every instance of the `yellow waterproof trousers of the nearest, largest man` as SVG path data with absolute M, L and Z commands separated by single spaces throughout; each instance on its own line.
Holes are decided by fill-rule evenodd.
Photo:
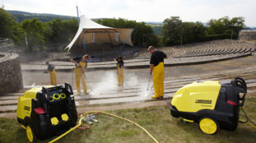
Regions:
M 153 83 L 154 83 L 154 98 L 163 97 L 163 81 L 165 79 L 165 69 L 163 62 L 160 62 L 153 69 Z

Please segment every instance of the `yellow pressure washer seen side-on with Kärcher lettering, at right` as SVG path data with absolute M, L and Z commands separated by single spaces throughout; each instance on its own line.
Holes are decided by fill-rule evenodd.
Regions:
M 218 128 L 235 130 L 246 93 L 246 82 L 240 77 L 231 82 L 197 81 L 174 94 L 171 116 L 181 117 L 183 122 L 196 122 L 207 134 L 216 133 Z

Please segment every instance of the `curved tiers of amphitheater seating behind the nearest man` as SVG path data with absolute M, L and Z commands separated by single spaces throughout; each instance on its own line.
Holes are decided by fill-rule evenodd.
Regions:
M 160 48 L 160 51 L 165 52 L 168 57 L 180 58 L 180 57 L 203 57 L 203 56 L 215 56 L 215 55 L 237 55 L 248 54 L 254 49 L 253 43 L 247 43 L 243 41 L 235 40 L 219 40 L 209 41 L 203 43 L 191 43 L 188 45 L 177 47 L 164 47 Z M 175 53 L 177 52 L 177 53 Z M 137 59 L 148 59 L 150 54 L 147 49 L 140 50 Z

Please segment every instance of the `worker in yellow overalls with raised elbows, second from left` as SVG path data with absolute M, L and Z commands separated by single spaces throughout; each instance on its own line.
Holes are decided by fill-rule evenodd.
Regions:
M 87 68 L 87 63 L 89 60 L 89 55 L 84 55 L 82 57 L 76 57 L 71 59 L 72 63 L 75 63 L 75 77 L 76 77 L 76 90 L 77 94 L 81 94 L 80 80 L 82 81 L 82 88 L 85 94 L 89 94 L 87 91 L 86 81 L 85 81 L 85 69 Z

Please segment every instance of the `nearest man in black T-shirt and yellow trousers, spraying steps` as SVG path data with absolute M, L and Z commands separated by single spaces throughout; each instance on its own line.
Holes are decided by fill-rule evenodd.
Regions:
M 163 81 L 165 79 L 165 69 L 163 66 L 163 60 L 168 57 L 162 51 L 157 51 L 154 46 L 148 47 L 148 52 L 151 53 L 150 59 L 150 74 L 153 72 L 153 83 L 155 94 L 151 96 L 152 98 L 163 97 L 164 85 Z

